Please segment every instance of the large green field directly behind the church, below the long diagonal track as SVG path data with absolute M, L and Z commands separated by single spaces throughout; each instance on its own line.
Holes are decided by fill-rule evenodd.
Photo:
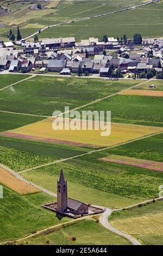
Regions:
M 142 144 L 143 141 L 146 140 L 147 139 L 141 140 Z M 138 141 L 137 143 L 139 144 Z M 154 143 L 155 142 L 153 142 L 153 145 Z M 144 144 L 147 144 L 146 147 L 148 147 L 148 142 L 144 142 Z M 158 145 L 161 145 L 160 139 L 158 139 Z M 119 151 L 117 150 L 117 152 Z M 124 155 L 126 155 L 126 151 L 122 151 L 121 154 L 124 152 Z M 161 152 L 159 147 L 157 148 L 157 144 L 155 144 L 155 151 L 155 155 L 161 157 Z M 34 181 L 56 192 L 56 186 L 53 187 L 53 183 L 56 183 L 60 168 L 62 167 L 67 181 L 71 184 L 71 197 L 78 200 L 84 198 L 86 202 L 93 204 L 99 204 L 100 200 L 102 200 L 105 206 L 110 207 L 131 205 L 138 201 L 158 196 L 158 187 L 163 182 L 162 172 L 98 160 L 98 158 L 106 157 L 112 152 L 117 153 L 113 150 L 104 150 L 87 154 L 86 156 L 79 156 L 75 159 L 67 160 L 66 162 L 44 166 L 35 171 L 24 172 L 22 175 L 27 178 L 27 180 Z M 134 146 L 131 152 L 134 154 Z M 158 159 L 160 159 L 160 157 Z M 80 193 L 80 190 L 82 190 L 81 185 L 86 187 L 85 193 L 83 189 L 83 194 Z M 75 186 L 79 187 L 79 193 L 77 190 L 74 190 Z M 91 189 L 97 190 L 96 197 L 94 190 Z M 89 191 L 89 193 L 87 193 L 87 191 Z M 101 193 L 98 193 L 98 191 Z M 104 197 L 103 192 L 105 192 Z

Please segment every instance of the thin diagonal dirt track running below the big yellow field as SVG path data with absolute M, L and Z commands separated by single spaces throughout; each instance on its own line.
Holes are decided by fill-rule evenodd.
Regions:
M 85 156 L 86 154 L 92 154 L 92 153 L 96 153 L 96 152 L 108 150 L 109 148 L 114 148 L 114 147 L 117 147 L 117 146 L 122 146 L 122 145 L 125 145 L 125 144 L 129 144 L 130 142 L 134 142 L 134 141 L 137 141 L 137 140 L 142 140 L 142 139 L 145 139 L 145 138 L 149 138 L 149 137 L 151 137 L 151 136 L 154 136 L 154 135 L 157 135 L 157 134 L 161 134 L 161 133 L 163 133 L 163 130 L 162 130 L 161 132 L 152 133 L 152 134 L 149 134 L 149 135 L 145 135 L 145 136 L 142 136 L 142 137 L 140 137 L 140 138 L 136 138 L 136 139 L 134 139 L 134 140 L 129 140 L 129 141 L 126 141 L 126 142 L 118 143 L 118 144 L 116 144 L 116 145 L 112 145 L 112 146 L 108 146 L 108 147 L 99 148 L 98 150 L 92 150 L 92 151 L 88 151 L 88 152 L 85 152 L 85 153 L 82 153 L 82 154 L 78 154 L 78 155 L 73 156 L 73 157 L 63 158 L 63 159 L 60 159 L 60 160 L 55 160 L 55 161 L 53 161 L 53 162 L 51 162 L 51 163 L 42 164 L 42 165 L 35 166 L 35 167 L 30 168 L 30 169 L 27 169 L 27 170 L 19 171 L 18 173 L 21 174 L 21 173 L 23 173 L 23 172 L 36 170 L 36 169 L 39 169 L 39 168 L 44 167 L 44 166 L 48 166 L 48 165 L 52 165 L 52 164 L 57 164 L 57 163 L 65 162 L 65 161 L 67 161 L 67 160 L 71 160 L 71 159 L 73 159 L 73 158 L 77 158 L 77 157 L 80 157 L 80 156 Z

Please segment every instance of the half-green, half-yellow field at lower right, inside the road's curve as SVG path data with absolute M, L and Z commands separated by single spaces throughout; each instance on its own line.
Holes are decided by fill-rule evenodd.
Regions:
M 109 220 L 114 227 L 134 236 L 145 245 L 163 243 L 163 202 L 157 201 L 131 210 L 112 213 Z

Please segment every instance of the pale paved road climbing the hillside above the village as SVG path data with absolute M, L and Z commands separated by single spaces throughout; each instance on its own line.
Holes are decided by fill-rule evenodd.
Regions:
M 104 13 L 104 14 L 99 14 L 99 15 L 95 15 L 95 16 L 85 17 L 85 18 L 83 18 L 83 19 L 73 20 L 73 22 L 79 22 L 79 21 L 84 21 L 84 20 L 93 19 L 93 18 L 96 18 L 96 17 L 106 16 L 106 15 L 115 14 L 115 13 L 121 13 L 122 11 L 127 11 L 127 10 L 131 10 L 131 9 L 134 9 L 134 8 L 142 7 L 142 6 L 144 6 L 144 5 L 151 4 L 151 3 L 152 3 L 152 1 L 149 1 L 149 2 L 147 2 L 147 3 L 135 5 L 135 6 L 133 6 L 133 7 L 128 7 L 128 8 L 121 9 L 121 10 L 111 11 L 110 13 Z M 44 27 L 44 28 L 41 28 L 40 31 L 42 32 L 42 31 L 44 31 L 44 30 L 46 30 L 46 29 L 49 29 L 49 28 L 51 28 L 51 27 L 57 27 L 57 26 L 61 26 L 61 25 L 70 24 L 71 22 L 72 22 L 72 21 L 66 21 L 66 22 L 60 22 L 60 23 L 58 23 L 58 24 L 53 24 L 53 25 L 51 25 L 51 26 L 46 26 L 46 27 Z M 35 33 L 29 35 L 29 36 L 26 37 L 26 38 L 23 38 L 22 40 L 27 40 L 27 39 L 29 39 L 29 38 L 31 38 L 31 37 L 34 37 L 34 35 L 36 35 L 36 34 L 39 34 L 39 31 L 37 31 L 37 32 L 35 32 Z M 18 43 L 18 42 L 17 42 L 17 43 Z

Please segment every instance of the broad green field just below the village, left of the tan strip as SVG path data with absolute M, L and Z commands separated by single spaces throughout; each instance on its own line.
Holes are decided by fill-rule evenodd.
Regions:
M 12 75 L 14 76 L 14 75 Z M 36 76 L 0 92 L 0 110 L 52 116 L 136 85 L 137 81 L 106 81 L 87 78 Z M 31 97 L 32 96 L 32 97 Z M 26 102 L 26 104 L 24 104 Z

